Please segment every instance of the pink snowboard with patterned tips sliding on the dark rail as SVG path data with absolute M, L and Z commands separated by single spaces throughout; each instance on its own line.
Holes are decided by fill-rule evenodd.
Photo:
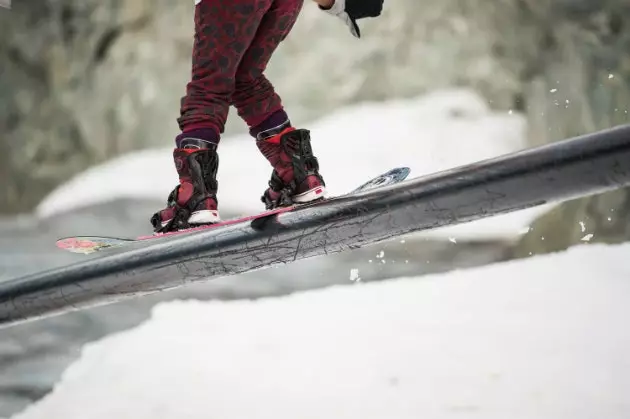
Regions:
M 57 240 L 56 245 L 59 249 L 67 250 L 73 253 L 81 253 L 81 254 L 91 254 L 94 252 L 99 252 L 102 250 L 119 248 L 125 246 L 127 244 L 138 242 L 138 241 L 146 241 L 146 240 L 158 240 L 163 237 L 169 237 L 174 235 L 183 235 L 188 234 L 194 231 L 201 231 L 207 229 L 217 229 L 221 227 L 225 227 L 232 224 L 242 223 L 246 221 L 254 222 L 257 219 L 261 219 L 264 217 L 269 217 L 271 215 L 281 214 L 285 212 L 293 211 L 297 208 L 302 208 L 309 205 L 314 205 L 316 203 L 331 201 L 334 199 L 338 199 L 345 196 L 350 196 L 353 194 L 357 194 L 359 192 L 367 191 L 370 189 L 381 188 L 388 185 L 393 185 L 395 183 L 402 182 L 409 176 L 410 169 L 408 167 L 396 167 L 394 169 L 389 170 L 386 173 L 383 173 L 379 176 L 376 176 L 367 182 L 363 183 L 359 187 L 354 190 L 347 192 L 342 195 L 337 195 L 333 197 L 328 197 L 324 199 L 318 199 L 317 201 L 312 201 L 304 204 L 294 204 L 288 207 L 276 208 L 273 210 L 263 211 L 254 215 L 248 215 L 245 217 L 232 218 L 225 221 L 221 221 L 215 224 L 203 225 L 199 227 L 192 227 L 185 230 L 167 232 L 167 233 L 154 233 L 151 235 L 140 236 L 134 238 L 122 238 L 122 237 L 106 237 L 106 236 L 74 236 L 74 237 L 64 237 Z

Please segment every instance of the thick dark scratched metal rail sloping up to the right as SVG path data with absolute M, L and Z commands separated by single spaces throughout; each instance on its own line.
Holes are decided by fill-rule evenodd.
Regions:
M 1 282 L 0 326 L 629 184 L 626 125 Z

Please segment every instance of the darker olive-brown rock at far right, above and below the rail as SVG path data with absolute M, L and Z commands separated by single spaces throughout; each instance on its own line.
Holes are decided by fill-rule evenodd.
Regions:
M 630 5 L 622 0 L 521 5 L 515 16 L 522 31 L 505 40 L 513 46 L 506 58 L 527 57 L 521 83 L 532 145 L 630 122 L 625 53 L 630 33 L 623 30 L 630 27 Z M 627 189 L 574 200 L 537 220 L 514 255 L 563 250 L 587 240 L 626 241 L 629 222 Z

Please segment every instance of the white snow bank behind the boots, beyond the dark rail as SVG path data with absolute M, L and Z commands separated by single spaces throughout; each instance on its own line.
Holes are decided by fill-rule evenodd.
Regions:
M 523 116 L 492 112 L 469 90 L 363 103 L 337 110 L 308 128 L 331 195 L 354 189 L 395 166 L 411 167 L 411 176 L 416 177 L 526 147 Z M 49 194 L 36 214 L 50 217 L 79 205 L 125 197 L 165 201 L 177 182 L 171 153 L 170 148 L 139 151 L 93 167 Z M 259 197 L 270 174 L 271 167 L 250 137 L 223 138 L 218 175 L 221 209 L 236 216 L 260 212 Z M 546 209 L 425 234 L 514 237 Z

